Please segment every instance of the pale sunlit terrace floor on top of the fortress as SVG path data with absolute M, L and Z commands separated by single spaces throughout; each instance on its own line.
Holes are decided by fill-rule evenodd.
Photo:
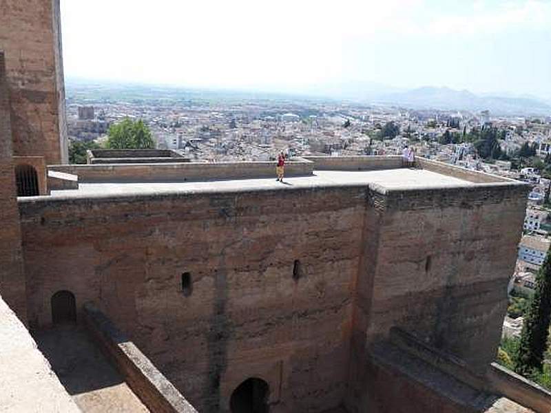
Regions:
M 427 169 L 384 169 L 380 171 L 315 171 L 312 176 L 199 182 L 105 182 L 81 183 L 79 189 L 52 191 L 53 197 L 88 198 L 105 195 L 152 195 L 171 192 L 239 191 L 331 187 L 347 184 L 375 184 L 381 189 L 442 189 L 477 186 L 474 182 Z

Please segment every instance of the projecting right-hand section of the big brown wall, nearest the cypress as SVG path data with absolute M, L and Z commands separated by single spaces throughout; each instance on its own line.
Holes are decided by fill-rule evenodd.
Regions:
M 364 246 L 353 313 L 351 412 L 380 397 L 373 392 L 384 383 L 373 375 L 369 348 L 393 326 L 484 373 L 501 337 L 527 190 L 371 193 L 364 233 L 373 236 Z

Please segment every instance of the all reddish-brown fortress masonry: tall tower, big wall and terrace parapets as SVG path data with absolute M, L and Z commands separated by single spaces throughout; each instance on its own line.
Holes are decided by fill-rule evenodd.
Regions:
M 44 156 L 47 165 L 67 160 L 59 34 L 59 0 L 0 4 L 0 289 L 31 329 L 50 326 L 52 296 L 69 290 L 77 321 L 92 302 L 200 412 L 228 412 L 233 390 L 251 377 L 269 384 L 271 413 L 342 405 L 351 413 L 486 411 L 466 410 L 459 399 L 495 390 L 468 383 L 495 358 L 525 185 L 419 160 L 477 184 L 249 184 L 17 200 L 12 155 Z M 249 163 L 57 165 L 49 182 L 74 189 L 76 176 L 273 176 L 273 165 Z M 400 166 L 398 157 L 311 157 L 289 171 Z M 419 348 L 453 355 L 459 379 L 438 367 L 439 355 L 434 375 L 419 368 L 419 357 L 395 350 L 397 329 Z M 447 384 L 421 383 L 423 374 Z M 459 392 L 458 380 L 468 389 Z M 147 381 L 138 387 L 149 388 Z M 518 383 L 503 372 L 499 382 L 518 401 Z M 537 393 L 521 403 L 551 399 L 523 386 Z

